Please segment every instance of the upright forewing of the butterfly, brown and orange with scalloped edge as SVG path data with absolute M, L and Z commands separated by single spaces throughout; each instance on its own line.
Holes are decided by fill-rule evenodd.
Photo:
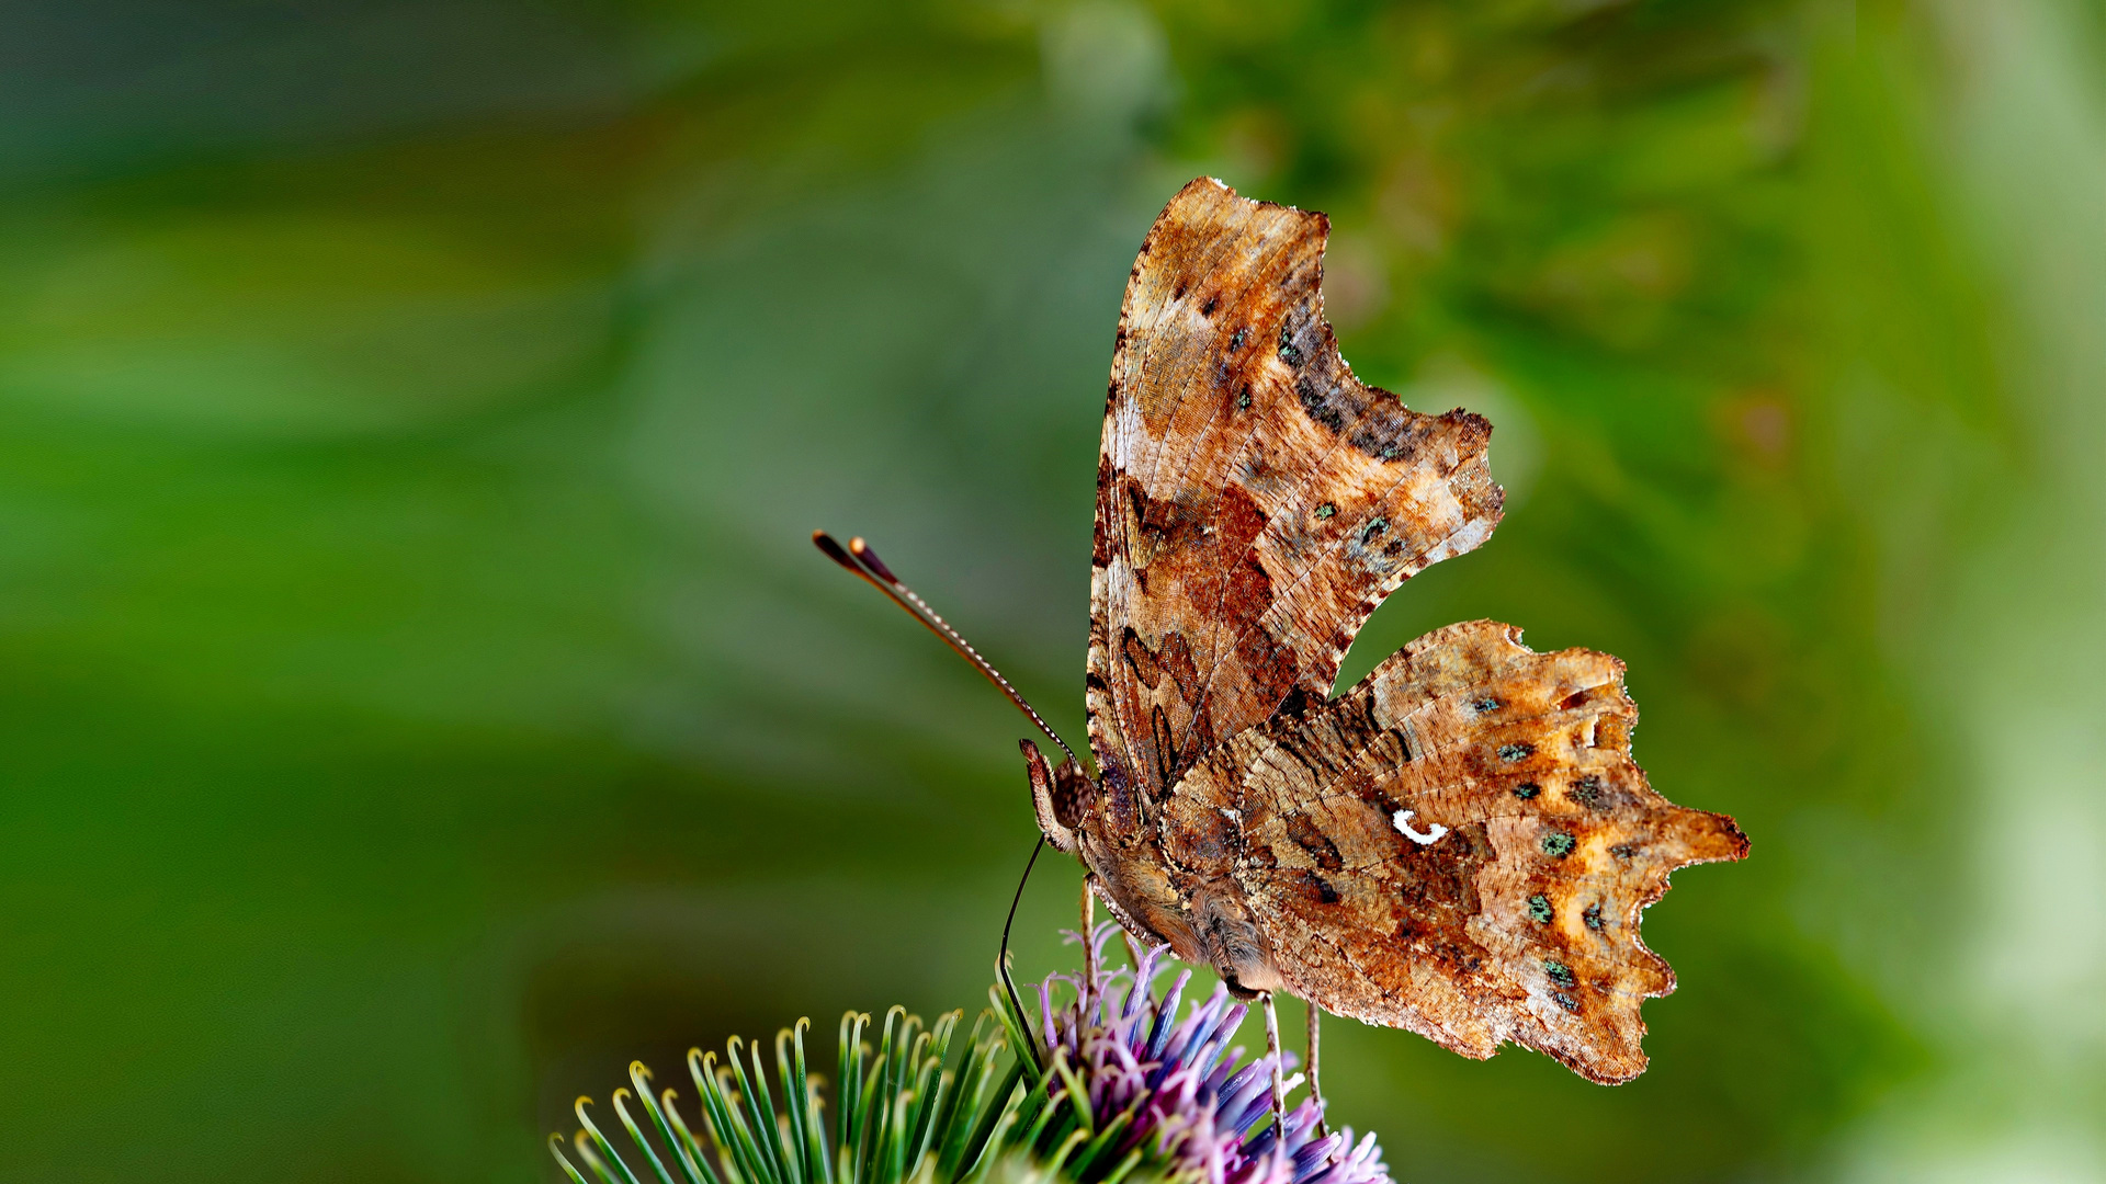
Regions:
M 1327 232 L 1320 213 L 1198 179 L 1129 278 L 1089 649 L 1114 824 L 1139 826 L 1200 754 L 1283 704 L 1323 704 L 1375 605 L 1499 518 L 1489 423 L 1409 411 L 1339 358 Z

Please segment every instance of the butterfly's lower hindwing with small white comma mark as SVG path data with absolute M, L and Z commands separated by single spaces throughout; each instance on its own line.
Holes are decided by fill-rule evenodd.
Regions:
M 1643 1072 L 1638 1003 L 1674 973 L 1638 916 L 1668 872 L 1748 843 L 1647 786 L 1622 672 L 1470 621 L 1238 746 L 1238 881 L 1287 986 L 1474 1058 L 1516 1041 Z

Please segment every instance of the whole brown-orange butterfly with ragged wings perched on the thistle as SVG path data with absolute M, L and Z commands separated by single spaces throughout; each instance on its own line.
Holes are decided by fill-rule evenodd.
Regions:
M 1740 860 L 1630 756 L 1624 664 L 1521 630 L 1434 630 L 1333 697 L 1407 577 L 1491 537 L 1491 423 L 1369 388 L 1323 316 L 1320 213 L 1200 177 L 1120 305 L 1097 459 L 1089 748 L 1059 742 L 861 539 L 821 550 L 922 617 L 1068 750 L 1024 742 L 1045 838 L 1135 938 L 1238 996 L 1409 1028 L 1462 1055 L 1645 1070 L 1674 990 L 1641 914 Z

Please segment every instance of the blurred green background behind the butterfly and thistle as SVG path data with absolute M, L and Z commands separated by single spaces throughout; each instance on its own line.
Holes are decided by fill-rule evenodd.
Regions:
M 1112 327 L 1211 173 L 1740 866 L 1601 1089 L 1333 1022 L 1400 1182 L 2106 1180 L 2106 13 L 0 8 L 0 1178 L 552 1180 L 644 1055 L 977 1007 Z M 1068 965 L 1040 868 L 1019 969 Z

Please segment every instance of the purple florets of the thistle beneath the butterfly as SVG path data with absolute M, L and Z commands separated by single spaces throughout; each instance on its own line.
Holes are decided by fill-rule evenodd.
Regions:
M 1095 963 L 1118 925 L 1091 935 Z M 1068 933 L 1080 942 L 1078 933 Z M 1097 1129 L 1131 1114 L 1120 1140 L 1125 1157 L 1146 1146 L 1173 1178 L 1203 1184 L 1392 1184 L 1373 1131 L 1358 1144 L 1352 1131 L 1318 1138 L 1323 1108 L 1314 1098 L 1287 1112 L 1287 1144 L 1264 1123 L 1272 1114 L 1272 1053 L 1238 1068 L 1243 1049 L 1230 1039 L 1247 1009 L 1215 986 L 1177 1022 L 1177 1003 L 1192 971 L 1179 971 L 1160 996 L 1165 946 L 1141 948 L 1129 940 L 1133 967 L 1082 975 L 1051 975 L 1038 988 L 1038 1039 L 1047 1062 L 1066 1062 L 1089 1093 Z M 1055 1009 L 1053 984 L 1064 982 L 1076 1001 Z M 1293 1058 L 1287 1060 L 1293 1066 Z M 1287 1079 L 1293 1089 L 1299 1074 Z M 1264 1129 L 1251 1133 L 1264 1123 Z

